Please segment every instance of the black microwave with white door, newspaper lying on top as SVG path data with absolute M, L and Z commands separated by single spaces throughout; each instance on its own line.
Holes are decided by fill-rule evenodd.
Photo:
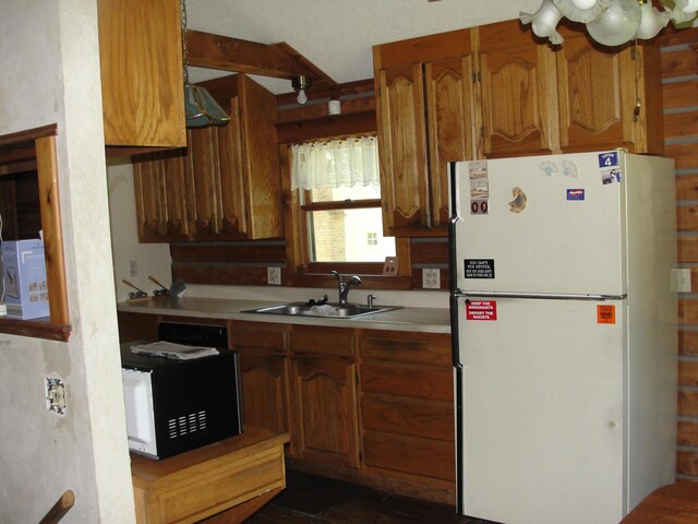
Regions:
M 178 360 L 135 354 L 136 344 L 121 345 L 131 451 L 166 458 L 243 431 L 237 352 Z

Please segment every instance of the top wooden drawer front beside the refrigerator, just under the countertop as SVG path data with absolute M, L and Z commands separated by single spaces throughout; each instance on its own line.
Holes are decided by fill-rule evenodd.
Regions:
M 450 366 L 450 335 L 364 330 L 360 355 L 366 359 Z

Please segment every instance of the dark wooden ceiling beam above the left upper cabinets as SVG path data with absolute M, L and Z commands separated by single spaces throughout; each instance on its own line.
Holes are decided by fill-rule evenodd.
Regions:
M 314 82 L 336 84 L 285 43 L 258 44 L 192 29 L 185 39 L 190 66 L 287 80 L 304 74 Z

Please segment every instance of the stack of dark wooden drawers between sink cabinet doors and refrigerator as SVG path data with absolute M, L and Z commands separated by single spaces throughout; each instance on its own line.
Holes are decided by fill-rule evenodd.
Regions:
M 449 502 L 455 493 L 450 337 L 364 330 L 359 355 L 365 471 L 438 486 Z

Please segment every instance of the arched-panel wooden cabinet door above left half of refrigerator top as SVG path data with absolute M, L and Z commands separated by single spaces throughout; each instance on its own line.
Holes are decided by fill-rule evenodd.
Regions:
M 482 145 L 485 158 L 545 155 L 557 145 L 555 58 L 512 21 L 479 34 Z

